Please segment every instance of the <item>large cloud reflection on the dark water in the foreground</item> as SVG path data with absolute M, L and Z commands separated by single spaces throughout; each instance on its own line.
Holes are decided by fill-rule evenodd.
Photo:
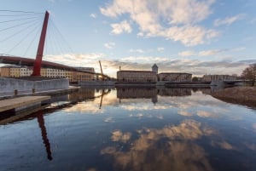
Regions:
M 144 128 L 137 133 L 139 138 L 131 142 L 129 150 L 108 146 L 101 151 L 114 157 L 117 170 L 212 170 L 206 151 L 195 140 L 215 132 L 201 123 L 185 120 L 178 126 Z M 111 139 L 126 143 L 130 138 L 131 133 L 114 131 Z

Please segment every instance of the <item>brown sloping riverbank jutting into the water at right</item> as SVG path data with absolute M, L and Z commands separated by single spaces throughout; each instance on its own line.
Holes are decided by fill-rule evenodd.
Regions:
M 212 93 L 214 98 L 256 108 L 256 87 L 224 88 Z

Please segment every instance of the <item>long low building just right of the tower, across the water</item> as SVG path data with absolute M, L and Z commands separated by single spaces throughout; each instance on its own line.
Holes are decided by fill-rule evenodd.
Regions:
M 158 74 L 159 81 L 166 82 L 191 82 L 192 74 L 178 72 L 163 72 Z

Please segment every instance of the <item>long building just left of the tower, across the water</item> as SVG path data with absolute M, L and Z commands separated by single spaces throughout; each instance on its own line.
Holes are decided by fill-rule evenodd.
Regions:
M 157 76 L 154 71 L 118 71 L 119 82 L 156 82 Z

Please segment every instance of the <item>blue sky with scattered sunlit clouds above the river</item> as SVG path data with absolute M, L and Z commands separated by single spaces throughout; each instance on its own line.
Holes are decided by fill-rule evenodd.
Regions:
M 0 54 L 35 58 L 44 13 L 48 10 L 44 60 L 67 66 L 94 67 L 100 72 L 101 60 L 103 73 L 116 77 L 119 66 L 121 70 L 151 71 L 156 64 L 159 72 L 189 72 L 201 77 L 241 75 L 243 69 L 256 63 L 255 0 L 0 0 L 0 3 Z M 4 30 L 4 26 L 10 25 L 3 22 L 10 20 L 4 16 L 13 14 L 5 10 L 42 13 L 42 20 L 32 23 L 35 28 L 30 32 L 38 35 L 31 38 L 33 42 L 15 43 L 21 36 L 1 41 L 9 37 L 6 35 L 15 34 Z M 26 36 L 25 31 L 21 35 L 32 37 Z

